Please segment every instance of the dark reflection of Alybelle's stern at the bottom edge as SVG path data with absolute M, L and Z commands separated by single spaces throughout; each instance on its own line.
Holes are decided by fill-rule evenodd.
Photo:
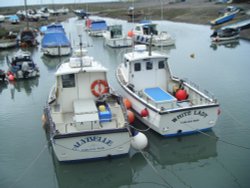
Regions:
M 120 187 L 131 185 L 136 170 L 146 163 L 141 155 L 83 163 L 59 163 L 53 155 L 56 177 L 60 188 Z M 136 166 L 134 166 L 136 165 Z

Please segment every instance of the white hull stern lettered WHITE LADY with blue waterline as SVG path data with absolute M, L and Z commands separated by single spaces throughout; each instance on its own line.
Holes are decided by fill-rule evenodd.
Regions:
M 139 108 L 138 108 L 139 109 Z M 218 118 L 218 106 L 189 108 L 180 112 L 166 114 L 154 113 L 149 110 L 148 117 L 141 117 L 138 111 L 137 118 L 159 134 L 172 137 L 188 135 L 211 129 Z

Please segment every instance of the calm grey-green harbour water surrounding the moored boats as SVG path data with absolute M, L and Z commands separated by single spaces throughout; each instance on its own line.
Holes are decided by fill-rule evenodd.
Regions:
M 106 20 L 121 22 L 125 33 L 133 27 L 126 21 Z M 145 132 L 149 146 L 143 153 L 132 150 L 117 159 L 58 163 L 41 116 L 56 67 L 67 57 L 44 57 L 40 47 L 30 49 L 41 76 L 0 85 L 1 188 L 250 187 L 250 42 L 211 46 L 209 26 L 156 23 L 176 39 L 174 47 L 159 48 L 169 54 L 172 74 L 188 78 L 218 98 L 221 115 L 212 131 L 162 138 L 149 130 Z M 83 25 L 83 20 L 71 18 L 63 23 L 74 45 L 79 43 L 77 24 Z M 125 49 L 104 47 L 102 38 L 90 38 L 85 32 L 82 38 L 89 55 L 109 69 L 109 82 L 119 91 L 115 68 Z M 0 51 L 1 69 L 7 70 L 5 56 L 16 51 Z M 138 121 L 135 124 L 147 129 Z

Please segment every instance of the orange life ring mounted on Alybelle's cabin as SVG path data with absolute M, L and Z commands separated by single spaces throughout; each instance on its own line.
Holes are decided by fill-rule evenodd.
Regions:
M 108 93 L 109 92 L 108 83 L 105 80 L 95 80 L 91 84 L 91 92 L 96 97 Z

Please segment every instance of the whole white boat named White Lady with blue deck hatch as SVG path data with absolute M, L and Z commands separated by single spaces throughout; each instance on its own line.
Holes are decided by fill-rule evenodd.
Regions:
M 172 76 L 168 56 L 136 45 L 125 53 L 116 77 L 121 94 L 144 124 L 169 137 L 212 128 L 219 103 L 195 84 Z

